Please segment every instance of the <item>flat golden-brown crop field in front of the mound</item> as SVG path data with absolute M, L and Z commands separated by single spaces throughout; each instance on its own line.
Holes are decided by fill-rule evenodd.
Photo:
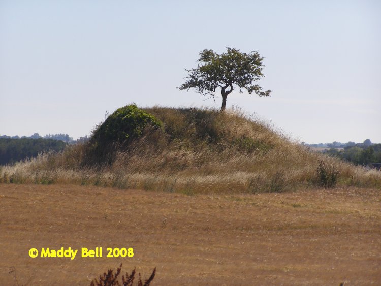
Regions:
M 13 273 L 20 285 L 88 285 L 121 262 L 145 278 L 157 267 L 153 285 L 379 285 L 380 194 L 345 188 L 189 197 L 0 184 L 0 285 L 17 284 Z M 28 256 L 32 247 L 62 246 L 133 247 L 135 255 Z

